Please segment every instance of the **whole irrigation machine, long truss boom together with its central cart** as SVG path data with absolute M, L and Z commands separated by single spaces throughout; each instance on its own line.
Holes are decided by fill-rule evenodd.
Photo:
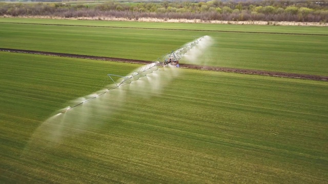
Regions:
M 119 75 L 114 75 L 114 74 L 108 74 L 107 76 L 113 81 L 113 83 L 115 84 L 112 88 L 110 89 L 106 89 L 104 91 L 102 91 L 100 94 L 87 99 L 81 103 L 78 103 L 72 107 L 66 108 L 65 110 L 61 111 L 60 113 L 65 113 L 68 110 L 81 105 L 87 101 L 90 101 L 92 99 L 95 99 L 101 95 L 106 94 L 108 91 L 115 89 L 121 85 L 126 85 L 126 84 L 130 84 L 133 81 L 138 80 L 141 77 L 145 77 L 147 74 L 151 74 L 154 71 L 157 71 L 159 68 L 161 67 L 179 67 L 179 60 L 191 49 L 195 48 L 198 43 L 204 39 L 204 36 L 196 38 L 195 40 L 193 40 L 192 42 L 189 42 L 185 45 L 183 45 L 182 47 L 176 49 L 175 51 L 172 51 L 171 53 L 165 54 L 159 58 L 157 58 L 155 61 L 150 62 L 149 64 L 146 64 L 145 66 L 142 66 L 140 68 L 138 68 L 138 70 L 135 70 L 134 72 L 130 73 L 127 76 L 119 76 Z M 119 77 L 120 79 L 115 82 L 115 80 L 112 77 Z M 59 114 L 60 114 L 59 113 Z

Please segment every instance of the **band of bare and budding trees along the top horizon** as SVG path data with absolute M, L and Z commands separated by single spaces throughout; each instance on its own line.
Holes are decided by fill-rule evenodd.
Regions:
M 0 3 L 0 15 L 327 22 L 328 0 L 65 4 Z

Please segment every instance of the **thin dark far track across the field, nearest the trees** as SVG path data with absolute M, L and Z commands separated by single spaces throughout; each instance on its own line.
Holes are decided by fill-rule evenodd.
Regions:
M 209 32 L 228 32 L 228 33 L 261 33 L 261 34 L 286 34 L 286 35 L 316 35 L 328 36 L 328 34 L 305 34 L 305 33 L 274 33 L 274 32 L 252 32 L 252 31 L 223 31 L 223 30 L 197 30 L 197 29 L 167 29 L 167 28 L 137 28 L 137 27 L 119 27 L 119 26 L 88 26 L 88 25 L 61 25 L 61 24 L 39 24 L 25 22 L 3 22 L 9 24 L 29 24 L 29 25 L 48 25 L 48 26 L 79 26 L 79 27 L 100 27 L 100 28 L 127 28 L 127 29 L 150 29 L 150 30 L 177 30 L 177 31 L 209 31 Z

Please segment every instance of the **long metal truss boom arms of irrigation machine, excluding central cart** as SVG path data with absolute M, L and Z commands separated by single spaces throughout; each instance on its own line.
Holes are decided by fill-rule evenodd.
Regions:
M 131 73 L 131 75 L 127 75 L 127 76 L 119 76 L 119 75 L 114 75 L 114 74 L 108 74 L 107 76 L 113 81 L 113 83 L 115 84 L 115 86 L 111 89 L 107 89 L 105 90 L 103 93 L 100 93 L 99 95 L 97 96 L 94 96 L 88 100 L 85 100 L 83 102 L 80 102 L 72 107 L 68 107 L 67 109 L 61 111 L 60 113 L 65 113 L 67 112 L 68 110 L 74 108 L 74 107 L 77 107 L 81 104 L 84 104 L 85 102 L 88 102 L 92 99 L 95 99 L 101 95 L 104 95 L 106 94 L 108 91 L 110 90 L 113 90 L 119 86 L 122 86 L 122 85 L 126 85 L 126 84 L 130 84 L 131 82 L 133 81 L 136 81 L 138 79 L 140 79 L 141 77 L 145 77 L 147 74 L 151 74 L 153 73 L 154 71 L 157 71 L 159 68 L 165 66 L 165 61 L 168 57 L 171 56 L 172 53 L 174 53 L 177 58 L 181 58 L 183 55 L 185 55 L 189 50 L 193 49 L 194 47 L 196 47 L 196 45 L 199 43 L 199 41 L 201 41 L 204 37 L 200 37 L 200 38 L 197 38 L 195 40 L 193 40 L 192 42 L 189 42 L 185 45 L 183 45 L 182 47 L 178 48 L 174 51 L 172 51 L 171 53 L 168 53 L 168 54 L 165 54 L 163 55 L 162 57 L 159 57 L 157 58 L 155 61 L 149 63 L 149 64 L 146 64 L 146 66 L 142 66 L 139 68 L 139 70 L 136 70 L 134 72 Z M 121 80 L 119 82 L 115 82 L 112 78 L 112 76 L 115 76 L 115 77 L 121 77 Z M 60 114 L 59 113 L 59 114 Z

